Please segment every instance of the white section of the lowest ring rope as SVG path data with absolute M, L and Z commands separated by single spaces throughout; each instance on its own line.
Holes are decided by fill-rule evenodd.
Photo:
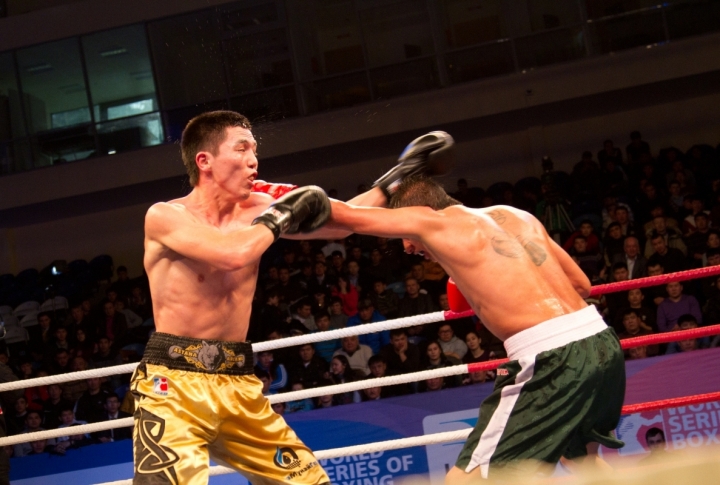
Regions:
M 346 446 L 344 448 L 333 448 L 330 450 L 321 450 L 314 452 L 315 458 L 318 460 L 328 460 L 330 458 L 340 458 L 342 456 L 355 456 L 364 453 L 377 453 L 379 451 L 398 450 L 401 448 L 411 448 L 413 446 L 436 445 L 439 443 L 449 443 L 451 441 L 464 441 L 472 431 L 472 428 L 461 429 L 458 431 L 446 431 L 444 433 L 433 433 L 423 436 L 412 436 L 410 438 L 400 438 L 396 440 L 378 441 L 376 443 L 368 443 L 365 445 Z M 225 466 L 211 466 L 209 469 L 211 477 L 216 475 L 226 475 L 235 473 L 235 470 Z M 132 485 L 132 479 L 119 480 L 116 482 L 106 482 L 100 485 Z

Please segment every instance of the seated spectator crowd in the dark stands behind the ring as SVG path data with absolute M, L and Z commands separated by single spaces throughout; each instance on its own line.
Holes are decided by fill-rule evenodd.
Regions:
M 719 147 L 720 148 L 720 147 Z M 720 264 L 720 150 L 696 145 L 651 149 L 638 132 L 623 151 L 607 140 L 582 154 L 570 173 L 543 160 L 540 177 L 486 190 L 464 179 L 452 193 L 468 207 L 511 205 L 535 214 L 593 284 Z M 359 189 L 360 190 L 360 189 Z M 718 230 L 716 230 L 718 228 Z M 259 342 L 449 310 L 448 276 L 435 262 L 403 252 L 397 240 L 285 241 L 263 257 L 248 340 Z M 478 284 L 483 284 L 478 275 Z M 0 293 L 1 294 L 1 293 Z M 518 295 L 522 298 L 522 295 Z M 720 323 L 720 278 L 609 293 L 588 299 L 621 339 Z M 0 304 L 3 302 L 0 301 Z M 144 277 L 116 279 L 41 312 L 26 342 L 0 352 L 2 380 L 28 379 L 138 360 L 152 332 Z M 638 347 L 628 359 L 689 352 L 717 339 Z M 256 355 L 265 394 L 474 363 L 505 356 L 478 318 L 327 340 Z M 12 375 L 14 374 L 14 376 Z M 8 377 L 9 376 L 9 377 Z M 428 379 L 275 404 L 276 412 L 384 399 L 491 381 L 492 372 Z M 9 434 L 130 416 L 129 376 L 54 384 L 0 396 Z M 131 437 L 120 428 L 17 445 L 14 456 L 64 454 Z

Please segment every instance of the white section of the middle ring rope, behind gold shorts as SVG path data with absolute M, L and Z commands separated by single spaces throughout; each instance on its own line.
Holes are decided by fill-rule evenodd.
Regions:
M 397 376 L 363 379 L 355 382 L 346 382 L 345 384 L 314 387 L 312 389 L 303 389 L 301 391 L 273 394 L 271 396 L 268 396 L 268 400 L 270 401 L 270 404 L 288 401 L 299 401 L 300 399 L 326 396 L 328 394 L 342 394 L 345 392 L 359 391 L 362 389 L 368 389 L 370 387 L 385 387 L 396 384 L 406 384 L 408 382 L 418 382 L 425 379 L 433 379 L 437 377 L 448 377 L 460 374 L 467 374 L 467 372 L 467 364 L 453 365 L 448 367 L 441 367 L 439 369 L 412 372 L 409 374 L 401 374 Z M 58 438 L 60 436 L 68 436 L 69 434 L 77 435 L 94 433 L 96 431 L 105 431 L 114 428 L 123 428 L 126 426 L 133 426 L 133 424 L 133 418 L 122 418 L 113 419 L 111 421 L 101 421 L 99 423 L 82 424 L 79 426 L 73 426 L 72 428 L 58 428 L 46 431 L 35 431 L 34 433 L 22 433 L 19 435 L 0 438 L 0 447 L 6 445 L 15 445 L 18 443 L 26 443 L 30 441 L 38 441 L 42 439 Z M 72 433 L 70 433 L 69 430 L 72 431 Z

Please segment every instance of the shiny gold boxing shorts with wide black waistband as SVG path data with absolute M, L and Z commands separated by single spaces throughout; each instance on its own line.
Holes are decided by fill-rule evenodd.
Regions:
M 206 484 L 210 457 L 253 485 L 330 483 L 262 395 L 246 342 L 155 333 L 130 389 L 134 484 Z

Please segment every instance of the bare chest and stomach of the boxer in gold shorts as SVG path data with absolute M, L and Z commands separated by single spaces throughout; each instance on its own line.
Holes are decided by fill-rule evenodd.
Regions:
M 248 204 L 218 228 L 231 231 L 247 227 L 267 207 Z M 155 207 L 175 211 L 180 220 L 203 221 L 187 198 Z M 159 243 L 146 222 L 144 265 L 150 282 L 157 331 L 194 338 L 244 341 L 250 321 L 259 260 L 240 269 L 223 270 L 184 257 Z

